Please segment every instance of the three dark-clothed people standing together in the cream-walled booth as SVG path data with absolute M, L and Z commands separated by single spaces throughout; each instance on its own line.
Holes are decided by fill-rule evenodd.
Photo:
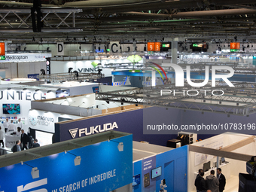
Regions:
M 203 169 L 199 169 L 195 180 L 197 192 L 223 192 L 226 185 L 226 178 L 221 173 L 221 168 L 217 169 L 217 177 L 215 177 L 215 170 L 211 170 L 211 175 L 207 176 L 206 179 L 203 176 Z

